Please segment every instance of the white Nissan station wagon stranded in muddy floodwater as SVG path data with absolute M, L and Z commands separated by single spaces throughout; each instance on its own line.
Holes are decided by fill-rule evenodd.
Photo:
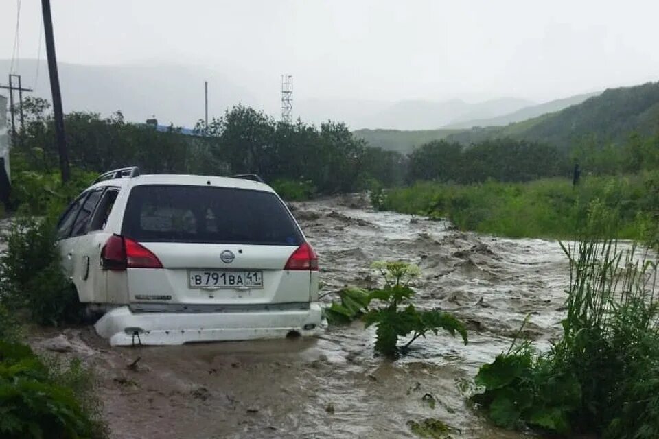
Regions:
M 103 174 L 62 215 L 58 243 L 110 344 L 314 335 L 318 259 L 257 176 Z

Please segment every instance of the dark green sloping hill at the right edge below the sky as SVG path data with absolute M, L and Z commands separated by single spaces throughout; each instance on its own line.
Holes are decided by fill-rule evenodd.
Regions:
M 494 137 L 513 137 L 569 148 L 588 136 L 602 142 L 623 142 L 629 133 L 650 134 L 659 129 L 659 82 L 609 88 L 581 104 L 504 127 L 472 128 L 448 139 L 473 143 Z

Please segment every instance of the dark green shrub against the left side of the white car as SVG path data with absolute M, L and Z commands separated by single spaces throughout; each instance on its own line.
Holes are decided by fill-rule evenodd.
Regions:
M 27 309 L 40 324 L 80 321 L 82 306 L 62 272 L 52 219 L 19 217 L 12 224 L 0 257 L 0 300 L 12 311 Z

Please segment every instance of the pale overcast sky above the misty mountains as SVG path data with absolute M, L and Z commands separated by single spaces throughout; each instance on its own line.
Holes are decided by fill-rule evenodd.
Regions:
M 0 0 L 0 58 L 12 58 L 16 3 Z M 659 80 L 656 0 L 53 0 L 52 9 L 62 62 L 195 64 L 263 100 L 278 96 L 281 73 L 294 76 L 297 99 L 544 101 Z M 22 0 L 19 56 L 36 58 L 40 27 L 41 2 Z

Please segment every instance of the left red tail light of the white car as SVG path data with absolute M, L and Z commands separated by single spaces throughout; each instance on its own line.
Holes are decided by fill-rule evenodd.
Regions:
M 101 263 L 105 270 L 163 268 L 160 259 L 151 250 L 120 235 L 112 235 L 105 243 L 101 250 Z

